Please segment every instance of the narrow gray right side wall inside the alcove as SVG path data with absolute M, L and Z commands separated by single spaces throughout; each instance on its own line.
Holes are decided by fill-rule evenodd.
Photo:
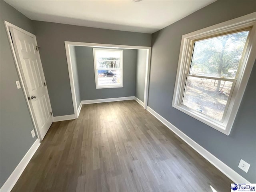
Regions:
M 137 50 L 135 96 L 144 102 L 147 50 Z

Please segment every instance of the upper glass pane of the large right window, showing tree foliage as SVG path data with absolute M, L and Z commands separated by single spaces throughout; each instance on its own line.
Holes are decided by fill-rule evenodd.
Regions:
M 196 41 L 190 74 L 235 78 L 248 31 Z

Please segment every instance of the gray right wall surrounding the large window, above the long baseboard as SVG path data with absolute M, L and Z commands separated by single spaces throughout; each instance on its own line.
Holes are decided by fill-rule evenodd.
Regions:
M 148 106 L 244 178 L 256 183 L 256 66 L 229 136 L 171 106 L 183 34 L 256 11 L 255 0 L 218 0 L 152 34 Z M 248 173 L 238 168 L 250 163 Z

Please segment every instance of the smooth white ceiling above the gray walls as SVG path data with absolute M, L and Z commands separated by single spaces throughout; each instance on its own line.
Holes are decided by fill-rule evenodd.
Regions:
M 4 0 L 32 20 L 153 33 L 216 0 Z

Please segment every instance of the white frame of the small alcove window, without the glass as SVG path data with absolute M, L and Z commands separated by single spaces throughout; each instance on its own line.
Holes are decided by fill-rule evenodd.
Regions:
M 95 51 L 100 50 L 100 51 L 114 51 L 114 52 L 121 52 L 121 57 L 120 57 L 120 69 L 121 70 L 121 84 L 120 85 L 98 85 L 98 70 L 111 70 L 108 68 L 97 68 L 97 60 L 96 60 L 96 54 Z M 124 64 L 124 50 L 121 49 L 103 49 L 103 48 L 93 48 L 93 60 L 94 60 L 94 74 L 95 74 L 95 85 L 96 89 L 105 89 L 105 88 L 122 88 L 124 87 L 123 85 L 123 79 L 124 79 L 124 71 L 123 71 L 123 64 Z M 114 70 L 114 69 L 112 69 Z

